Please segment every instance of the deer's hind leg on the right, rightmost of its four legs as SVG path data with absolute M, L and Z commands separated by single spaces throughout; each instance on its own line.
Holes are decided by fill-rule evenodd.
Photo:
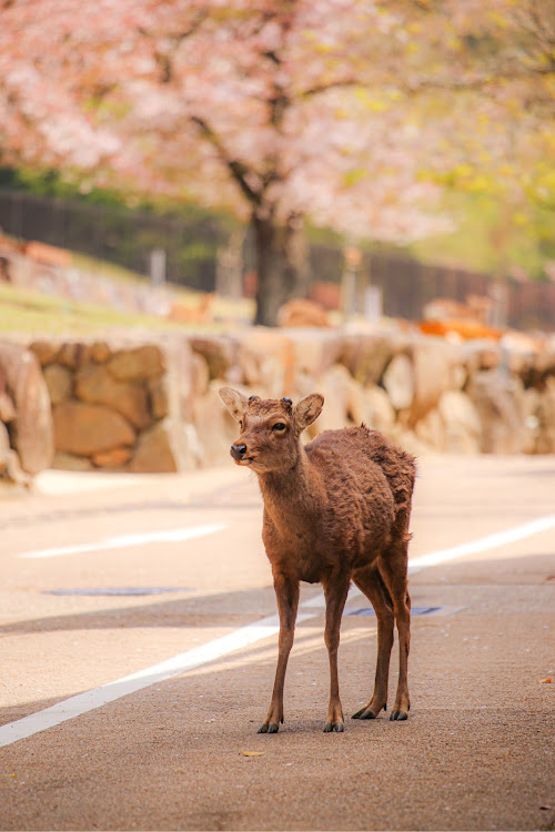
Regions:
M 393 601 L 398 632 L 398 684 L 391 720 L 408 718 L 408 650 L 411 647 L 411 596 L 406 587 L 408 536 L 402 535 L 381 555 L 377 565 Z

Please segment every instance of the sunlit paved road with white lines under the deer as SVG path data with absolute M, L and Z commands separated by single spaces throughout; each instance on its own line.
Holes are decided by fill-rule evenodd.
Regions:
M 343 734 L 310 586 L 285 724 L 256 734 L 275 605 L 246 471 L 40 486 L 0 501 L 1 829 L 555 828 L 555 458 L 422 460 L 411 717 Z M 163 591 L 58 593 L 114 588 Z M 346 615 L 347 713 L 374 657 Z

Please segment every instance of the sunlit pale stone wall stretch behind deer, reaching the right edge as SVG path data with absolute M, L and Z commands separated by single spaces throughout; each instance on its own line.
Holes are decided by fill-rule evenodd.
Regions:
M 191 346 L 206 379 L 195 390 L 203 448 L 223 430 L 224 382 L 263 396 L 322 393 L 324 409 L 309 436 L 364 422 L 416 454 L 555 453 L 553 338 L 451 344 L 396 329 L 254 328 Z M 210 453 L 225 459 L 225 442 Z

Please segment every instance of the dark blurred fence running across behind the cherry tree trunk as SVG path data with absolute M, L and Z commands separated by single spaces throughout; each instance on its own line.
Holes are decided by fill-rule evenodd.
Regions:
M 38 240 L 117 263 L 144 275 L 150 274 L 152 250 L 163 248 L 167 278 L 205 292 L 215 287 L 218 255 L 230 239 L 230 230 L 214 216 L 157 216 L 6 189 L 0 189 L 0 230 L 21 240 Z M 252 270 L 253 263 L 248 235 L 243 268 Z M 383 311 L 391 317 L 417 321 L 425 304 L 435 297 L 465 303 L 468 295 L 501 295 L 511 326 L 555 329 L 555 284 L 511 280 L 500 284 L 484 274 L 381 253 L 365 255 L 362 267 L 366 280 L 382 290 Z M 339 283 L 343 268 L 340 245 L 310 246 L 312 281 Z

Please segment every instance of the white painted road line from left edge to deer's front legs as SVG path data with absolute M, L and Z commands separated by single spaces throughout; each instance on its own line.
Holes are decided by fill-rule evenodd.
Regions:
M 312 618 L 313 615 L 301 612 L 297 620 L 304 621 L 307 618 Z M 251 625 L 246 625 L 246 627 L 242 627 L 240 630 L 230 632 L 229 636 L 222 636 L 219 639 L 209 641 L 208 645 L 195 647 L 184 653 L 179 653 L 179 656 L 162 661 L 160 664 L 153 664 L 150 668 L 140 670 L 138 673 L 132 673 L 131 676 L 125 676 L 123 679 L 104 684 L 102 688 L 87 690 L 84 693 L 78 693 L 75 697 L 57 702 L 51 708 L 31 713 L 29 717 L 23 717 L 23 719 L 16 722 L 9 722 L 0 727 L 0 748 L 10 745 L 12 742 L 23 740 L 27 737 L 32 737 L 40 731 L 46 731 L 48 728 L 59 726 L 61 722 L 67 722 L 70 719 L 93 711 L 97 708 L 108 704 L 108 702 L 113 702 L 117 699 L 121 699 L 121 697 L 135 693 L 138 690 L 148 688 L 151 684 L 163 682 L 172 676 L 185 673 L 188 670 L 193 670 L 193 668 L 219 659 L 221 656 L 226 656 L 233 650 L 253 645 L 261 639 L 275 635 L 279 629 L 279 616 L 263 618 L 260 621 L 254 621 Z

